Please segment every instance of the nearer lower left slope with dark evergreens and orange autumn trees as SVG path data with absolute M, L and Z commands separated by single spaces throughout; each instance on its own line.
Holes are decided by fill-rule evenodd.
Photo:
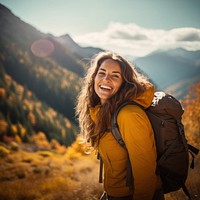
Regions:
M 45 135 L 69 146 L 78 133 L 66 117 L 41 102 L 26 87 L 16 83 L 0 65 L 0 141 L 35 143 L 35 135 Z M 44 148 L 50 148 L 46 141 Z

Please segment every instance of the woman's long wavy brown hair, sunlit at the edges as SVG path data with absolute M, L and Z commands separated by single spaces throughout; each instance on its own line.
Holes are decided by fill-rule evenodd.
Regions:
M 94 79 L 99 67 L 107 59 L 119 64 L 123 83 L 115 95 L 100 105 L 100 99 L 94 90 Z M 77 98 L 76 114 L 83 138 L 91 139 L 92 145 L 98 145 L 99 139 L 110 128 L 112 113 L 119 104 L 127 99 L 137 98 L 149 84 L 147 78 L 137 72 L 134 64 L 122 56 L 113 52 L 100 52 L 95 55 L 91 59 L 82 90 Z M 90 108 L 97 105 L 100 105 L 100 108 L 94 122 L 90 116 Z

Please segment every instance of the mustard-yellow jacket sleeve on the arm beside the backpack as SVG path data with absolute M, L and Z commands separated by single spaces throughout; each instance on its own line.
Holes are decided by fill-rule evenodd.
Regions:
M 134 200 L 151 200 L 157 189 L 156 148 L 146 113 L 135 105 L 124 107 L 118 125 L 126 144 L 133 173 Z

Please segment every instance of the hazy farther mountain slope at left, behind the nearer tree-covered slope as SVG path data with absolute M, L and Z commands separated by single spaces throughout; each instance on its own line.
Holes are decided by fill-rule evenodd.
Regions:
M 84 72 L 83 63 L 52 37 L 25 24 L 2 6 L 0 24 L 0 58 L 5 71 L 73 121 L 74 99 Z M 31 51 L 35 41 L 48 41 L 54 49 L 52 54 L 35 56 Z M 45 51 L 44 48 L 39 50 Z

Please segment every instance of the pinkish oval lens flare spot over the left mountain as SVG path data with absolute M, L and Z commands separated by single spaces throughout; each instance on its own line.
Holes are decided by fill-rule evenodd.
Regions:
M 31 45 L 31 52 L 40 58 L 49 56 L 54 51 L 54 44 L 47 39 L 36 40 Z

